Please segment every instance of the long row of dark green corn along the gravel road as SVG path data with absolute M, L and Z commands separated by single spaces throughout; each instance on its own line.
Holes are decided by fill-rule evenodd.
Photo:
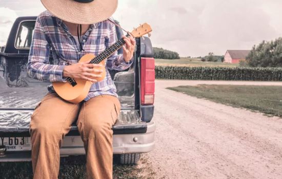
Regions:
M 282 68 L 156 66 L 156 79 L 282 81 Z

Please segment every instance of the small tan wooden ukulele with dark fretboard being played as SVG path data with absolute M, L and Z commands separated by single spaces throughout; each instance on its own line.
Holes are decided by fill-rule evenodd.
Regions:
M 143 24 L 140 25 L 138 28 L 134 28 L 134 30 L 127 34 L 127 37 L 132 36 L 133 38 L 141 37 L 145 34 L 148 34 L 152 31 L 150 25 Z M 79 62 L 85 62 L 91 59 L 90 63 L 94 64 L 102 64 L 101 67 L 95 68 L 99 70 L 103 70 L 102 73 L 94 72 L 93 74 L 101 75 L 102 77 L 96 77 L 94 79 L 98 81 L 102 81 L 106 77 L 106 69 L 105 69 L 105 59 L 107 59 L 111 54 L 118 49 L 122 48 L 125 44 L 124 39 L 120 39 L 112 46 L 108 47 L 105 51 L 100 53 L 99 55 L 95 56 L 94 54 L 86 54 L 82 58 L 80 58 Z M 66 101 L 71 103 L 79 103 L 83 101 L 89 93 L 90 87 L 93 82 L 83 80 L 83 79 L 73 79 L 68 77 L 67 82 L 52 82 L 52 85 L 55 89 L 55 92 Z

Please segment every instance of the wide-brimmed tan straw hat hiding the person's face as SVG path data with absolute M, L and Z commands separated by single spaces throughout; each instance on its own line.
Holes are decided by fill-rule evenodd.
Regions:
M 54 16 L 74 24 L 95 24 L 112 16 L 117 0 L 41 0 Z

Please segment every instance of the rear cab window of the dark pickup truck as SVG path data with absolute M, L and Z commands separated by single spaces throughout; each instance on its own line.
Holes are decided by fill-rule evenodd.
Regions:
M 17 49 L 29 49 L 31 45 L 35 21 L 23 21 L 18 28 L 15 47 Z

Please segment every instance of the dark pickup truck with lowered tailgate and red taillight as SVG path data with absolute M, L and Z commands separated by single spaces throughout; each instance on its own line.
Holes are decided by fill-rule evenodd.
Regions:
M 0 47 L 0 162 L 31 161 L 30 116 L 48 93 L 49 82 L 32 79 L 26 64 L 36 16 L 18 17 L 5 47 Z M 116 21 L 116 23 L 118 23 Z M 123 32 L 116 27 L 117 38 Z M 118 53 L 122 53 L 119 50 Z M 50 64 L 55 64 L 50 55 Z M 112 127 L 113 152 L 120 164 L 136 164 L 140 153 L 154 149 L 155 61 L 148 37 L 136 38 L 134 62 L 125 71 L 110 71 L 122 106 Z M 75 122 L 64 138 L 61 156 L 85 154 Z

